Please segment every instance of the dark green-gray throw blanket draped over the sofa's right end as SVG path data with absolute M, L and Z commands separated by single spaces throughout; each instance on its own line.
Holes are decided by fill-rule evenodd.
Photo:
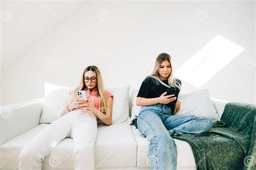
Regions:
M 227 103 L 209 132 L 171 137 L 190 144 L 197 169 L 256 169 L 255 113 L 256 105 Z

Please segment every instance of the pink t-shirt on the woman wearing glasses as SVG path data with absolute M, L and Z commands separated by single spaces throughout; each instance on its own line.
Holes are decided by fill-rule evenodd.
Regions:
M 70 91 L 69 94 L 73 94 L 74 91 L 75 91 L 75 89 Z M 110 91 L 108 91 L 108 90 L 105 90 L 105 93 L 106 93 L 106 98 L 114 97 L 114 95 L 112 95 L 110 93 Z M 90 89 L 85 88 L 85 94 L 86 94 L 86 98 L 87 98 L 88 102 L 91 102 L 97 110 L 100 110 L 100 106 L 99 106 L 100 98 L 98 96 L 98 88 L 93 89 L 91 94 L 90 94 Z M 78 110 L 78 109 L 75 109 L 75 110 Z M 93 116 L 95 116 L 95 115 L 93 114 Z M 95 118 L 97 119 L 97 121 L 99 120 L 96 116 L 95 116 Z

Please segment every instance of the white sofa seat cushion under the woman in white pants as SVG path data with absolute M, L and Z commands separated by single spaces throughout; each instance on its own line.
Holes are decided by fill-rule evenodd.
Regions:
M 40 124 L 0 146 L 0 166 L 3 169 L 18 169 L 18 156 L 22 148 L 46 126 L 49 124 Z M 42 161 L 43 169 L 73 169 L 73 139 L 69 137 L 70 134 L 45 157 Z M 98 125 L 95 167 L 135 167 L 136 155 L 136 140 L 127 121 L 110 126 Z M 49 161 L 58 166 L 51 166 Z

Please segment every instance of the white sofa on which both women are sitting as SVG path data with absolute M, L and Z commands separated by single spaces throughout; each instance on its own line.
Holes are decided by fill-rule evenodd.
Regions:
M 131 96 L 131 95 L 130 95 Z M 211 98 L 219 117 L 228 101 Z M 44 98 L 6 105 L 11 115 L 0 115 L 0 169 L 18 169 L 22 148 L 49 124 L 40 124 Z M 2 108 L 4 108 L 2 107 Z M 130 116 L 132 101 L 130 97 Z M 8 110 L 7 110 L 8 111 Z M 73 139 L 66 137 L 42 161 L 42 169 L 73 169 Z M 178 150 L 178 169 L 196 169 L 190 145 L 174 139 Z M 98 124 L 95 143 L 96 169 L 151 169 L 148 160 L 149 141 L 130 125 L 130 120 L 105 126 Z

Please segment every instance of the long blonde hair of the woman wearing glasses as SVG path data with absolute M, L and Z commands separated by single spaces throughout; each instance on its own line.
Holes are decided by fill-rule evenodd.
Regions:
M 80 80 L 80 85 L 75 88 L 74 93 L 73 93 L 73 99 L 71 100 L 70 103 L 72 103 L 75 100 L 76 94 L 78 90 L 84 90 L 86 88 L 85 82 L 84 82 L 84 74 L 88 71 L 95 72 L 97 76 L 97 87 L 98 88 L 98 97 L 100 98 L 100 103 L 99 103 L 99 108 L 100 111 L 102 111 L 103 114 L 106 114 L 106 93 L 105 93 L 105 88 L 104 88 L 104 83 L 102 79 L 102 73 L 100 73 L 98 67 L 96 66 L 88 66 L 84 69 L 81 80 Z

